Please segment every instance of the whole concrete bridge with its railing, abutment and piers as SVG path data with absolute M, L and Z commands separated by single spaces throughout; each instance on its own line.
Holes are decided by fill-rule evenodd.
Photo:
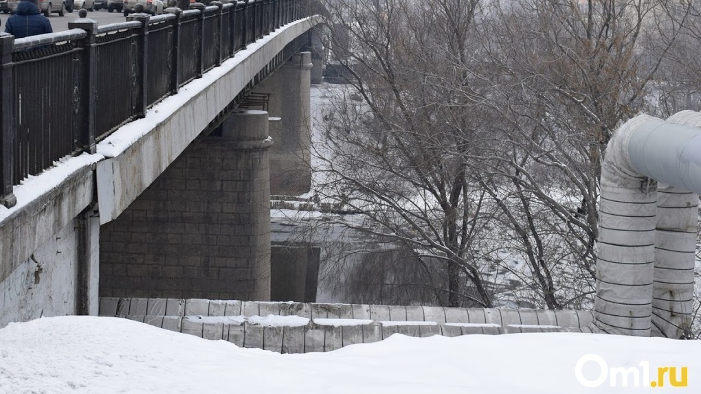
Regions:
M 0 327 L 39 316 L 96 315 L 101 296 L 269 300 L 269 197 L 271 190 L 304 192 L 311 182 L 309 84 L 320 78 L 322 24 L 306 1 L 249 0 L 135 14 L 105 27 L 76 20 L 52 36 L 0 37 L 3 63 L 15 64 L 3 71 L 3 102 L 19 103 L 2 111 Z M 188 31 L 205 40 L 184 54 Z M 143 67 L 132 66 L 132 75 L 144 83 L 100 90 L 110 77 L 101 77 L 95 58 L 107 56 L 100 45 L 120 34 L 137 48 L 135 64 Z M 159 77 L 146 54 L 163 49 L 157 37 L 178 44 L 165 48 L 164 64 L 196 62 L 191 78 L 171 69 L 174 77 L 161 84 L 165 94 L 154 99 L 158 85 L 148 78 Z M 64 48 L 67 42 L 74 44 Z M 32 144 L 46 146 L 39 137 L 25 141 L 29 104 L 13 97 L 22 88 L 16 64 L 36 61 L 41 50 L 68 54 L 74 60 L 68 64 L 84 67 L 75 76 L 81 92 L 69 107 L 72 117 L 63 117 L 79 148 L 18 176 L 33 149 L 42 149 Z M 107 71 L 118 71 L 119 64 L 112 66 Z M 114 115 L 99 111 L 100 104 L 130 87 L 126 122 L 96 132 Z

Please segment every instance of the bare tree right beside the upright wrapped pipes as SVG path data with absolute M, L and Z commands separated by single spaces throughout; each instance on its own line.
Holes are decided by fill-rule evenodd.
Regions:
M 686 12 L 666 1 L 492 4 L 484 75 L 505 142 L 488 157 L 484 187 L 547 307 L 593 292 L 601 156 L 616 127 L 646 108 Z

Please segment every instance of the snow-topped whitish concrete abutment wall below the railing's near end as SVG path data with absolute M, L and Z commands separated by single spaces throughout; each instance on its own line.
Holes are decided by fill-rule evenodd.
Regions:
M 18 204 L 0 207 L 0 327 L 39 316 L 76 314 L 79 297 L 76 217 L 93 202 L 99 155 L 74 157 L 15 186 Z M 97 314 L 97 226 L 83 258 L 86 311 Z M 92 241 L 91 241 L 92 240 Z M 92 269 L 94 268 L 94 269 Z M 83 307 L 81 307 L 83 308 Z

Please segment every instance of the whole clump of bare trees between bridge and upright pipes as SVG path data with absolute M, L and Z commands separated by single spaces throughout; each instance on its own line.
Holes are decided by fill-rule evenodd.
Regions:
M 451 306 L 590 302 L 601 157 L 622 121 L 652 108 L 691 4 L 330 9 L 346 32 L 332 45 L 351 88 L 327 113 L 325 197 L 362 214 L 354 228 L 368 239 L 444 262 L 423 270 L 447 278 Z M 495 286 L 507 276 L 517 284 Z

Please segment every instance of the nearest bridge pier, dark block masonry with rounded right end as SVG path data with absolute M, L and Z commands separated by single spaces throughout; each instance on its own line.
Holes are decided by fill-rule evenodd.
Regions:
M 102 226 L 101 296 L 269 299 L 267 151 L 239 148 L 192 143 Z

